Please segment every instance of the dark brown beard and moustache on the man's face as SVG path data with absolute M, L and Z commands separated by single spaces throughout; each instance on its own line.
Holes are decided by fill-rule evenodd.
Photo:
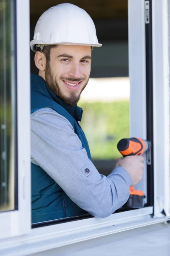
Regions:
M 61 79 L 68 80 L 68 81 L 77 81 L 77 82 L 85 80 L 84 78 L 72 79 L 72 78 L 65 78 L 65 77 L 61 77 Z M 77 102 L 80 99 L 80 95 L 82 91 L 85 89 L 86 85 L 88 84 L 88 81 L 87 81 L 87 83 L 84 85 L 84 87 L 82 88 L 79 94 L 76 94 L 75 91 L 70 91 L 69 96 L 65 96 L 62 90 L 59 88 L 57 81 L 53 78 L 51 67 L 49 66 L 48 63 L 46 63 L 46 68 L 45 68 L 45 81 L 48 87 L 50 88 L 50 90 L 52 90 L 58 96 L 59 99 L 65 102 L 65 104 L 71 107 L 77 105 Z

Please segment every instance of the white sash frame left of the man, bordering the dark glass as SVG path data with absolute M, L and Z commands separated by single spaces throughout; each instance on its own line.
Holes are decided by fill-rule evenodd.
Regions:
M 18 210 L 0 212 L 0 239 L 31 231 L 29 1 L 16 7 Z

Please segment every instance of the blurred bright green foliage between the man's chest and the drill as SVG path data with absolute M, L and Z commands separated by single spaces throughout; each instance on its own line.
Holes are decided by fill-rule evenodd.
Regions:
M 79 102 L 83 109 L 81 127 L 93 159 L 117 159 L 117 143 L 129 137 L 129 101 Z

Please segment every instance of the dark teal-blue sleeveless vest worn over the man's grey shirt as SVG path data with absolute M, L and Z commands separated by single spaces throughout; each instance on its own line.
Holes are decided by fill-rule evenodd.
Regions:
M 88 142 L 78 123 L 82 118 L 82 108 L 66 105 L 49 89 L 44 79 L 31 74 L 31 113 L 40 108 L 52 108 L 68 119 L 91 160 Z M 31 207 L 32 223 L 87 214 L 71 201 L 40 166 L 33 163 L 31 163 Z

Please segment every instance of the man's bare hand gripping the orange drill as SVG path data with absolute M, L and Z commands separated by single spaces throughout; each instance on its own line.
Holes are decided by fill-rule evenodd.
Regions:
M 132 178 L 133 185 L 142 180 L 144 163 L 142 156 L 128 156 L 116 160 L 116 167 L 121 166 L 126 169 Z

